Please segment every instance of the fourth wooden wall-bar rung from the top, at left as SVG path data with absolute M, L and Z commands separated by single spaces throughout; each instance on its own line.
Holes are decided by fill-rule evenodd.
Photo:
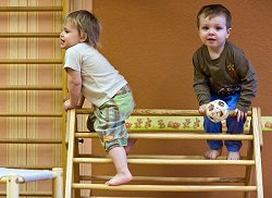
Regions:
M 62 86 L 7 85 L 0 86 L 0 90 L 62 90 Z

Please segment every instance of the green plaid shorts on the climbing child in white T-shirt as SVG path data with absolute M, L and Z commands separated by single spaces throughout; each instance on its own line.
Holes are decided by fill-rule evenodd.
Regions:
M 95 108 L 94 113 L 88 116 L 88 129 L 98 134 L 107 152 L 114 147 L 127 145 L 125 120 L 129 117 L 134 108 L 133 94 L 126 85 L 111 100 Z

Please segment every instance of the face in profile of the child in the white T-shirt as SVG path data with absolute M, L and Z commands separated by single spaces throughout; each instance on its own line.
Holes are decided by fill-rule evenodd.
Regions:
M 84 39 L 78 33 L 78 29 L 75 25 L 65 24 L 63 30 L 60 34 L 60 41 L 62 49 L 69 49 L 76 44 L 83 42 Z

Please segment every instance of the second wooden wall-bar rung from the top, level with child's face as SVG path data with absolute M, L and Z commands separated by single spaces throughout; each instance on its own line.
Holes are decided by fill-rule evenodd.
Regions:
M 59 38 L 60 33 L 0 33 L 0 38 Z

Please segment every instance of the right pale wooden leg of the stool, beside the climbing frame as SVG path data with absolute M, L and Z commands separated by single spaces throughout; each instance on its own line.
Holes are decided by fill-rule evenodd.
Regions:
M 53 178 L 53 198 L 63 198 L 63 169 L 52 169 L 55 177 Z

